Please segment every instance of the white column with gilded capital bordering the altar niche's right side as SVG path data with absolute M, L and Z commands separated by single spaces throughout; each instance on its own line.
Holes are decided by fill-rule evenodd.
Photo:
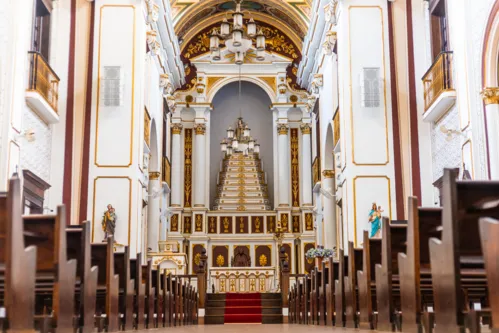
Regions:
M 277 125 L 277 144 L 279 153 L 279 207 L 289 207 L 289 126 Z

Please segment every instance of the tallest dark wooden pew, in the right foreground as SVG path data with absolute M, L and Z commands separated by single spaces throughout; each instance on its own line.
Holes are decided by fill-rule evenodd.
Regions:
M 479 283 L 485 271 L 478 219 L 499 217 L 499 182 L 456 181 L 455 172 L 446 169 L 443 184 L 442 237 L 430 239 L 436 333 L 464 330 L 466 294 L 486 294 L 486 283 Z

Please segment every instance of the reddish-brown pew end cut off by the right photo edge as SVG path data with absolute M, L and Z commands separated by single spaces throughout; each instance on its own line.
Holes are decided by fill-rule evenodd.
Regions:
M 499 333 L 499 221 L 491 218 L 480 219 L 480 239 L 482 243 L 485 271 L 489 287 L 491 332 Z

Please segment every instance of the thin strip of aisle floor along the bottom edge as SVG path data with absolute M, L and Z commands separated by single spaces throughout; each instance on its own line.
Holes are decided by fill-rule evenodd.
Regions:
M 160 331 L 154 330 L 155 332 Z M 144 331 L 145 333 L 146 331 Z M 332 327 L 319 327 L 319 326 L 306 326 L 306 325 L 259 325 L 259 324 L 228 324 L 228 325 L 198 325 L 198 326 L 184 326 L 165 329 L 167 332 L 192 332 L 192 333 L 372 333 L 373 331 L 341 329 Z M 137 332 L 139 333 L 139 332 Z M 151 333 L 149 331 L 149 333 Z

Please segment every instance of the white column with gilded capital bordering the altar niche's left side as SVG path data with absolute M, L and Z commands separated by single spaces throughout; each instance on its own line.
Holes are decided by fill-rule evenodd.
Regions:
M 205 206 L 205 184 L 206 184 L 206 125 L 196 124 L 194 126 L 196 131 L 195 136 L 195 164 L 194 164 L 194 191 L 193 203 L 194 207 Z

